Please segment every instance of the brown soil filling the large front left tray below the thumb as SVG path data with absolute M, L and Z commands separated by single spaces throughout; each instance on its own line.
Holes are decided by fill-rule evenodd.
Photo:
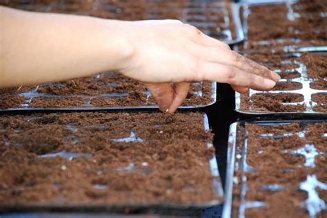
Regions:
M 212 192 L 202 113 L 1 116 L 0 207 L 204 203 Z M 132 135 L 135 133 L 135 135 Z M 134 138 L 134 142 L 124 142 Z M 42 157 L 62 151 L 84 157 Z

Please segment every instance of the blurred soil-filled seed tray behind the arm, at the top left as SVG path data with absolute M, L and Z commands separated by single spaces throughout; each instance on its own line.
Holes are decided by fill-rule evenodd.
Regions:
M 103 19 L 143 20 L 179 19 L 228 44 L 244 39 L 239 10 L 228 1 L 0 1 L 14 8 L 68 14 L 82 14 Z M 200 19 L 200 22 L 195 21 Z

